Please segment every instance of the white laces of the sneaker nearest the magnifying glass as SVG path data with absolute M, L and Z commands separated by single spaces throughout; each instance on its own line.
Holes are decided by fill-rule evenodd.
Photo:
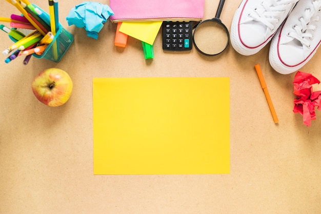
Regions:
M 248 16 L 252 17 L 254 21 L 260 22 L 274 30 L 274 25 L 279 23 L 279 17 L 289 8 L 290 4 L 295 4 L 296 0 L 266 0 L 260 4 L 263 10 L 254 8 L 255 13 L 249 13 Z

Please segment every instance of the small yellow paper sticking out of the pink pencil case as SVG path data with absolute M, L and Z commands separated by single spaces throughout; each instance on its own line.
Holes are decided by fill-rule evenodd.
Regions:
M 162 23 L 162 21 L 123 22 L 119 31 L 137 38 L 137 40 L 153 45 Z

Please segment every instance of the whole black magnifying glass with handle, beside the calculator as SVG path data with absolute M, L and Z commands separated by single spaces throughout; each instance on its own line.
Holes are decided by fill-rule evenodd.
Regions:
M 194 46 L 204 55 L 215 56 L 229 45 L 229 30 L 219 19 L 224 3 L 225 0 L 220 0 L 215 17 L 197 24 L 193 32 Z

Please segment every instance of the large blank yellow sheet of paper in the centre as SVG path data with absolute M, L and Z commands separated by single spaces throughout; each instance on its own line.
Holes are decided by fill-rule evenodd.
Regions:
M 94 174 L 230 171 L 228 77 L 93 79 Z

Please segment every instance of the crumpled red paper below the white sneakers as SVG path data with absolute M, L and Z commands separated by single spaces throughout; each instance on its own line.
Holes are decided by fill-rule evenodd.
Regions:
M 294 99 L 294 113 L 303 115 L 303 123 L 311 126 L 311 121 L 316 120 L 315 107 L 321 110 L 321 91 L 313 91 L 312 85 L 320 81 L 312 74 L 298 71 L 294 76 L 293 93 L 297 96 Z

